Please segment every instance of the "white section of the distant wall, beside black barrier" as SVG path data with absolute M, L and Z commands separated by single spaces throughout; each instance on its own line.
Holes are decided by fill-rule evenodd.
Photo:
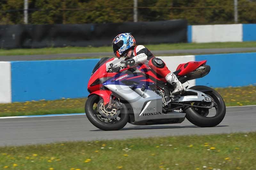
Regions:
M 242 42 L 243 24 L 193 25 L 193 43 Z

